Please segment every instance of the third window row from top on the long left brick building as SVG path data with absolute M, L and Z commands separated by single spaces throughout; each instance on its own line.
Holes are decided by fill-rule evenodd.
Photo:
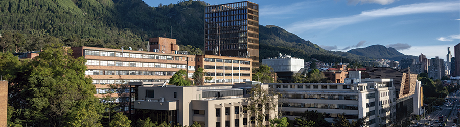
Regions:
M 174 75 L 176 72 L 163 71 L 120 71 L 120 70 L 86 70 L 85 75 Z

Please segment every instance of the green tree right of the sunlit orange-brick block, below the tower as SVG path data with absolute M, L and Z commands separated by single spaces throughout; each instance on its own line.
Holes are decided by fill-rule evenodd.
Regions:
M 262 83 L 273 83 L 275 75 L 271 72 L 273 68 L 268 65 L 260 65 L 259 69 L 254 69 L 252 74 L 253 81 L 259 81 Z

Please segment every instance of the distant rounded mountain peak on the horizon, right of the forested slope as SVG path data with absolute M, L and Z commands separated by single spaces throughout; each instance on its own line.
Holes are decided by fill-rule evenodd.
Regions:
M 418 58 L 417 56 L 404 55 L 398 52 L 396 49 L 389 47 L 386 48 L 383 45 L 371 45 L 365 48 L 357 48 L 348 51 L 348 53 L 365 56 L 373 59 L 389 59 L 400 61 L 402 58 Z

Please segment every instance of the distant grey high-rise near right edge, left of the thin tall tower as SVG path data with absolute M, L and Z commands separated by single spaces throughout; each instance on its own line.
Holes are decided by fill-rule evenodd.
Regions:
M 443 59 L 440 59 L 438 56 L 431 58 L 428 76 L 433 79 L 441 79 L 443 76 L 446 76 L 445 67 Z

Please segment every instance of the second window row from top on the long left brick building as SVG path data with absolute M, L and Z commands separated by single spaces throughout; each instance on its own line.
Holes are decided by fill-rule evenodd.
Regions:
M 87 60 L 85 65 L 150 67 L 150 68 L 178 68 L 178 69 L 187 68 L 187 65 L 175 65 L 175 64 L 166 64 L 166 63 L 147 63 L 147 62 L 103 61 L 103 60 Z

